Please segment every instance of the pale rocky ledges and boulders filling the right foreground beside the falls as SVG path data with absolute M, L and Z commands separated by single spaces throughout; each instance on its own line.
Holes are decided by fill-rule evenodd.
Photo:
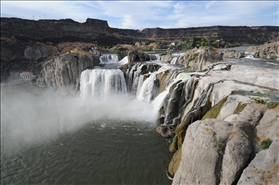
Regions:
M 278 56 L 278 43 L 259 48 L 273 48 L 265 56 Z M 153 68 L 142 70 L 134 55 L 121 67 L 126 78 L 140 72 L 150 79 L 146 69 Z M 161 60 L 169 63 L 172 57 Z M 184 70 L 158 70 L 150 82 L 158 94 L 166 92 L 156 131 L 172 140 L 172 184 L 277 184 L 278 69 L 230 65 L 223 53 L 210 49 L 193 49 L 177 61 Z

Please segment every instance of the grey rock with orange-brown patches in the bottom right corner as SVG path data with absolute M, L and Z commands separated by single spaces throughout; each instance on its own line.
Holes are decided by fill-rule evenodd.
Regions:
M 237 185 L 270 184 L 279 182 L 278 161 L 279 140 L 275 140 L 269 149 L 259 152 L 243 171 Z

